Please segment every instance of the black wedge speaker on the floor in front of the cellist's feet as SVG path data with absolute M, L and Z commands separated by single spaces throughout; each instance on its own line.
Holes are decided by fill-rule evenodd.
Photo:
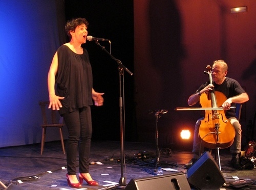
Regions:
M 208 151 L 187 170 L 187 180 L 199 189 L 219 189 L 225 183 L 218 165 Z

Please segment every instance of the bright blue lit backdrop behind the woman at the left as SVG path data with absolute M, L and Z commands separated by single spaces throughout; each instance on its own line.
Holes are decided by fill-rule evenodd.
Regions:
M 0 0 L 0 25 L 0 147 L 38 143 L 38 100 L 48 100 L 47 73 L 59 46 L 55 1 Z

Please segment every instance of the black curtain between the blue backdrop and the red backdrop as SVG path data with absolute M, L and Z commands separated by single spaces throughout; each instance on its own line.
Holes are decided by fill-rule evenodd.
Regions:
M 105 50 L 134 73 L 133 1 L 66 0 L 66 19 L 84 17 L 89 22 L 88 35 L 111 41 L 99 41 Z M 92 106 L 93 139 L 120 140 L 119 71 L 116 61 L 94 41 L 83 45 L 88 49 L 93 69 L 93 85 L 104 92 L 104 105 Z M 134 75 L 123 72 L 125 140 L 136 141 L 134 112 Z M 123 77 L 120 76 L 121 78 Z

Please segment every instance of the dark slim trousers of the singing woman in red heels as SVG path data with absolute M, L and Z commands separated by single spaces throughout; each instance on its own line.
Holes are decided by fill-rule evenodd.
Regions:
M 92 138 L 91 107 L 82 107 L 63 115 L 69 137 L 66 145 L 67 169 L 69 175 L 76 175 L 77 150 L 79 172 L 89 173 L 89 157 Z

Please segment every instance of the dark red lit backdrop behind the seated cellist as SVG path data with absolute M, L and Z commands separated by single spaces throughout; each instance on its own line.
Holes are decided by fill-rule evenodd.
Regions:
M 193 138 L 181 140 L 180 132 L 189 129 L 193 137 L 195 122 L 204 113 L 175 108 L 188 107 L 188 97 L 208 80 L 206 66 L 224 59 L 227 76 L 237 79 L 250 96 L 240 119 L 242 143 L 247 143 L 247 125 L 256 111 L 255 5 L 248 0 L 134 1 L 138 141 L 155 142 L 155 117 L 147 110 L 166 109 L 158 120 L 159 145 L 191 150 Z M 230 13 L 243 6 L 247 12 Z

